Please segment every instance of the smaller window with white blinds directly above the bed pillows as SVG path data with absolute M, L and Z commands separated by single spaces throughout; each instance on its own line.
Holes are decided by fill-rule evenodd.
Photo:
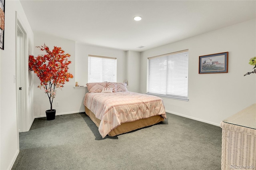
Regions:
M 116 82 L 116 58 L 88 55 L 88 83 Z

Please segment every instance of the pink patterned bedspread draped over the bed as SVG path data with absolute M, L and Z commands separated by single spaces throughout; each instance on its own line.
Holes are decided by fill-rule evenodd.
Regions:
M 86 93 L 84 105 L 100 119 L 99 132 L 104 138 L 121 123 L 156 115 L 166 119 L 160 97 L 122 91 L 116 93 Z

